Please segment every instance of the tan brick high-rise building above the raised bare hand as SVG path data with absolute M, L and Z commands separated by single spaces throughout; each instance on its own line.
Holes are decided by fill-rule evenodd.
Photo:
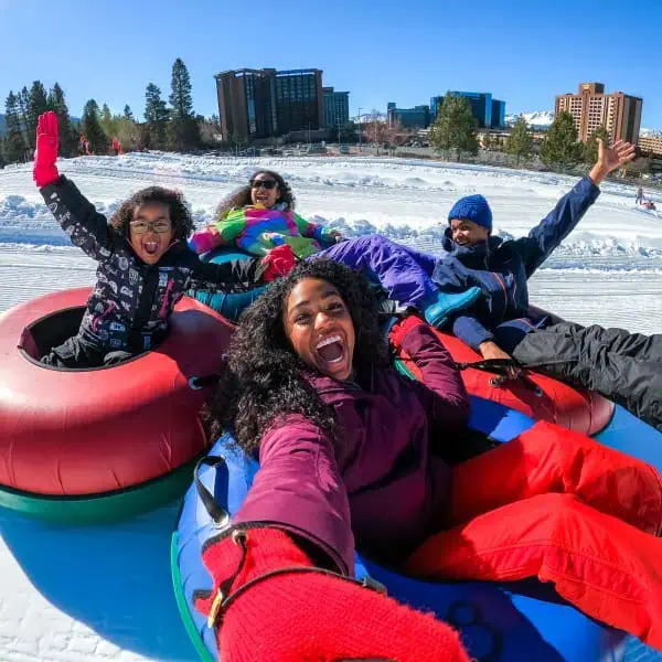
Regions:
M 605 94 L 602 83 L 581 83 L 577 94 L 556 97 L 554 113 L 566 111 L 573 116 L 581 142 L 599 127 L 605 127 L 612 141 L 627 140 L 637 145 L 642 106 L 641 98 L 622 92 Z

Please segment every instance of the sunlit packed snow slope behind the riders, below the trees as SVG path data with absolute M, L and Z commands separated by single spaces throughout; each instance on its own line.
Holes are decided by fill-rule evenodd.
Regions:
M 61 162 L 105 214 L 149 184 L 181 189 L 199 225 L 256 168 L 290 182 L 297 210 L 348 235 L 382 232 L 440 250 L 452 203 L 484 194 L 502 236 L 527 233 L 577 178 L 554 173 L 380 158 L 226 159 L 143 153 Z M 658 202 L 662 194 L 645 190 Z M 54 248 L 56 247 L 56 248 Z M 93 281 L 93 263 L 71 247 L 34 186 L 29 166 L 0 171 L 0 310 L 50 287 Z M 533 300 L 580 323 L 662 328 L 662 211 L 634 205 L 634 188 L 607 182 L 579 226 L 532 280 Z M 599 296 L 598 296 L 599 293 Z

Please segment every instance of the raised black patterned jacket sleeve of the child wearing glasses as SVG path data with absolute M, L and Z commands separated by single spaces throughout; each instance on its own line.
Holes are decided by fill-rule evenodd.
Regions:
M 108 221 L 74 182 L 61 175 L 55 183 L 41 189 L 40 193 L 74 246 L 96 260 L 110 255 L 114 241 Z

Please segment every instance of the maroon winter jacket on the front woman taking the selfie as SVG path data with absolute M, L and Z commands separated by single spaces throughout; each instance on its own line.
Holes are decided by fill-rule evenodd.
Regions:
M 353 573 L 356 546 L 397 562 L 440 524 L 449 469 L 431 451 L 439 435 L 467 425 L 469 397 L 437 337 L 424 324 L 402 341 L 423 383 L 373 369 L 359 386 L 321 375 L 310 381 L 339 420 L 338 440 L 301 415 L 263 437 L 250 491 L 235 523 L 269 522 L 321 546 Z M 430 439 L 430 428 L 435 439 Z

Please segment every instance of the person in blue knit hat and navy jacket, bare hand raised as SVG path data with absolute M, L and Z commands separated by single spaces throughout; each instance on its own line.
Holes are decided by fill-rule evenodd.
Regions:
M 605 177 L 634 157 L 634 148 L 599 141 L 588 177 L 564 195 L 528 236 L 491 236 L 492 212 L 482 195 L 459 200 L 448 215 L 433 280 L 441 290 L 478 286 L 482 296 L 456 314 L 455 335 L 484 359 L 514 359 L 523 366 L 597 391 L 662 430 L 662 335 L 622 329 L 553 323 L 528 310 L 527 279 L 575 228 L 600 194 Z M 512 357 L 512 359 L 511 359 Z

